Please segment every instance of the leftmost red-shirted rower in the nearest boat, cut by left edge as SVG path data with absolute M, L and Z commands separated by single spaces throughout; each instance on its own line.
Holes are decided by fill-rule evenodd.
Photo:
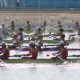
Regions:
M 0 54 L 1 59 L 9 59 L 9 55 L 10 55 L 9 49 L 6 47 L 5 44 L 2 44 L 2 51 Z

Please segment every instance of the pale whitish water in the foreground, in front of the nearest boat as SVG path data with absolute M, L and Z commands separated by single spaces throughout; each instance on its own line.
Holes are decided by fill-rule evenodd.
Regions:
M 77 64 L 75 64 L 77 65 Z M 79 80 L 80 65 L 8 64 L 0 68 L 0 80 Z

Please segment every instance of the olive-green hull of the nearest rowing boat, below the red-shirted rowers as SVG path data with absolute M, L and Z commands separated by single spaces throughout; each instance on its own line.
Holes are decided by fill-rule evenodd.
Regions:
M 3 60 L 6 63 L 56 63 L 56 64 L 61 64 L 63 63 L 62 60 L 56 60 L 54 59 L 37 59 L 37 60 L 32 60 L 32 59 L 9 59 L 9 60 Z M 77 59 L 67 59 L 67 61 L 72 62 L 72 63 L 77 63 Z

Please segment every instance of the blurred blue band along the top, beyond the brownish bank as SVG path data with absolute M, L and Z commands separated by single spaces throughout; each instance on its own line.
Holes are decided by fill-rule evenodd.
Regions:
M 0 0 L 0 10 L 77 10 L 80 0 Z

